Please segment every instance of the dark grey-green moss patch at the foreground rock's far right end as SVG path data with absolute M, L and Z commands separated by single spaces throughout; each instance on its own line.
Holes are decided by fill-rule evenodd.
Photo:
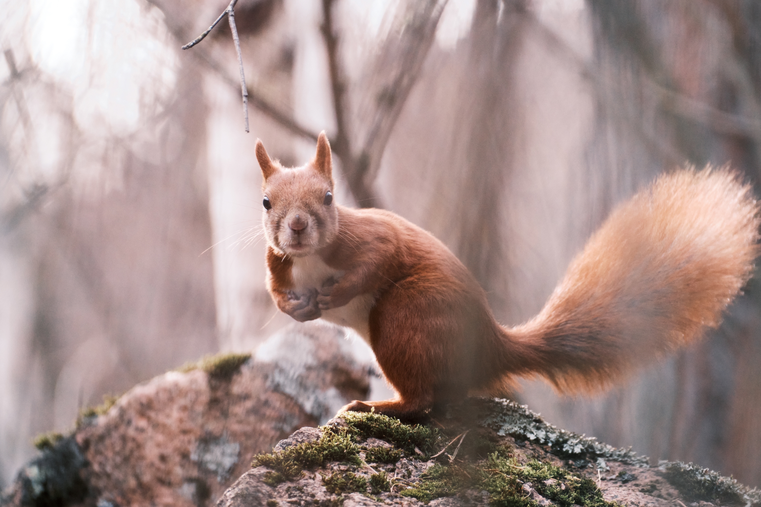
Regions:
M 664 478 L 689 501 L 705 500 L 721 505 L 756 504 L 761 501 L 759 499 L 761 494 L 756 494 L 755 499 L 745 498 L 743 488 L 736 480 L 731 477 L 721 477 L 708 468 L 677 461 L 666 464 L 663 470 Z

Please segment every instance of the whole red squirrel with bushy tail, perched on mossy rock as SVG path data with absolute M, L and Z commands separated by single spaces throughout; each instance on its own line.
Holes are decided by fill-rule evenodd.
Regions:
M 415 419 L 526 375 L 594 393 L 717 326 L 757 253 L 750 186 L 727 169 L 677 170 L 619 205 L 541 312 L 508 328 L 444 243 L 390 211 L 336 204 L 324 132 L 304 166 L 271 160 L 260 140 L 256 159 L 275 304 L 353 328 L 397 393 L 339 414 Z

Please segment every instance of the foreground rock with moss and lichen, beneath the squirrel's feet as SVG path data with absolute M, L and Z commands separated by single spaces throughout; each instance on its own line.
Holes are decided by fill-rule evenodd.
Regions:
M 416 446 L 415 452 L 407 452 L 396 463 L 371 462 L 368 464 L 368 461 L 373 461 L 369 456 L 374 448 L 384 446 L 399 449 L 399 445 L 385 442 L 384 439 L 367 438 L 367 423 L 361 426 L 365 428 L 361 431 L 355 429 L 360 427 L 355 424 L 352 423 L 352 417 L 347 416 L 330 421 L 322 429 L 299 429 L 289 439 L 279 442 L 273 456 L 286 457 L 287 455 L 283 452 L 287 453 L 288 449 L 295 449 L 295 445 L 299 444 L 303 449 L 305 442 L 306 445 L 319 445 L 323 433 L 333 433 L 333 428 L 340 426 L 352 428 L 345 434 L 355 436 L 353 438 L 361 449 L 359 452 L 361 460 L 355 460 L 352 463 L 350 458 L 344 458 L 344 461 L 330 461 L 323 463 L 320 467 L 306 466 L 300 475 L 297 474 L 291 480 L 279 483 L 278 480 L 272 480 L 275 477 L 272 474 L 278 470 L 277 466 L 257 466 L 247 471 L 221 496 L 217 507 L 243 507 L 244 505 L 417 507 L 425 505 L 426 501 L 427 505 L 433 507 L 476 505 L 524 505 L 527 507 L 565 505 L 569 507 L 572 505 L 573 502 L 558 499 L 556 493 L 566 490 L 566 484 L 562 481 L 546 476 L 539 480 L 535 479 L 533 482 L 525 478 L 521 479 L 517 469 L 528 469 L 532 466 L 538 469 L 539 464 L 562 469 L 561 473 L 565 474 L 569 488 L 572 484 L 576 485 L 573 487 L 577 487 L 580 478 L 587 477 L 587 487 L 600 492 L 601 496 L 594 502 L 590 501 L 584 505 L 610 506 L 617 503 L 648 507 L 761 506 L 761 492 L 758 490 L 749 490 L 734 480 L 720 477 L 714 472 L 691 464 L 664 461 L 656 467 L 651 467 L 648 464 L 648 458 L 635 455 L 626 449 L 616 449 L 594 439 L 557 429 L 545 423 L 537 414 L 527 410 L 527 407 L 521 407 L 510 401 L 474 398 L 466 401 L 462 407 L 451 408 L 446 416 L 436 415 L 429 426 L 441 428 L 437 430 L 439 432 L 438 440 L 435 440 L 437 447 L 429 450 L 429 454 L 425 454 L 420 453 Z M 372 431 L 375 430 L 371 430 L 371 433 Z M 451 439 L 450 437 L 453 436 L 454 439 Z M 447 442 L 450 446 L 444 448 Z M 507 472 L 493 468 L 495 465 L 487 460 L 491 451 L 478 450 L 479 446 L 483 448 L 484 442 L 489 442 L 488 448 L 501 449 L 500 452 L 506 453 L 505 455 L 514 460 L 510 461 L 512 463 L 510 466 L 516 469 L 514 477 L 519 479 L 517 480 L 517 496 L 513 499 L 505 500 L 504 497 L 501 500 L 497 499 L 498 495 L 494 496 L 494 483 L 489 484 L 485 480 L 489 474 L 502 474 L 507 477 L 511 472 L 509 467 L 505 469 Z M 459 458 L 454 450 L 456 445 L 460 452 Z M 461 450 L 460 445 L 463 445 Z M 470 449 L 466 450 L 469 445 Z M 444 448 L 444 452 L 439 453 L 440 448 Z M 493 456 L 496 457 L 497 454 Z M 437 474 L 433 473 L 434 467 L 438 467 Z M 448 476 L 441 474 L 446 467 L 454 472 L 465 471 L 467 479 L 460 475 L 462 480 L 457 485 L 454 474 Z M 557 471 L 558 468 L 555 470 Z M 385 473 L 385 477 L 390 480 L 388 483 L 390 487 L 384 491 L 371 486 L 371 477 L 378 473 Z M 354 488 L 345 487 L 343 491 L 336 490 L 335 482 L 332 483 L 333 486 L 330 486 L 330 478 L 336 476 L 347 480 L 361 477 L 361 482 Z M 448 477 L 445 480 L 454 480 L 455 482 L 452 483 L 454 486 L 446 484 L 441 486 L 441 483 L 430 486 L 431 481 L 441 480 L 441 477 Z M 555 493 L 552 493 L 552 488 Z M 487 489 L 490 491 L 486 491 Z M 425 492 L 424 490 L 434 493 L 426 498 L 420 494 Z M 416 497 L 405 496 L 411 491 L 416 492 L 411 493 Z

